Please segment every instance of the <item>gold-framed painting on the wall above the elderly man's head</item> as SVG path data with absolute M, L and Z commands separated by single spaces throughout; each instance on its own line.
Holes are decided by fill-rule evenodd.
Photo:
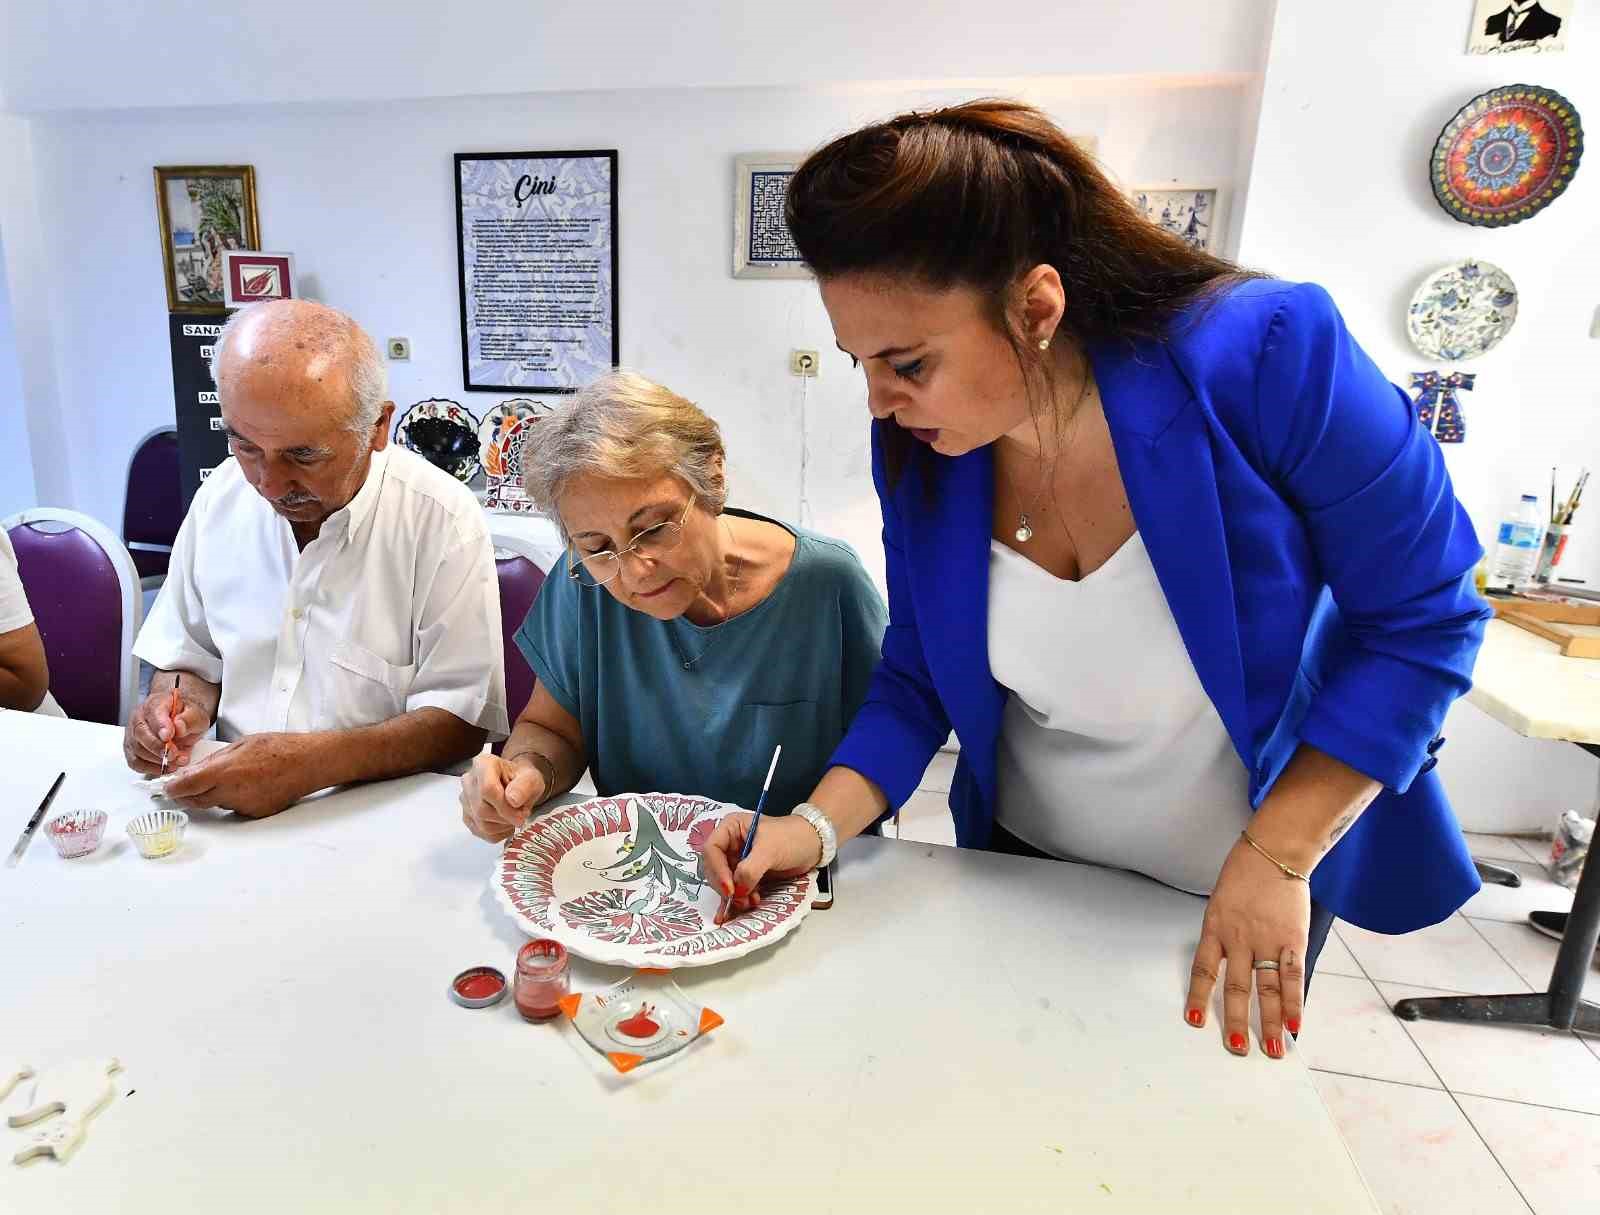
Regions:
M 155 170 L 162 269 L 170 312 L 222 312 L 227 250 L 261 245 L 251 165 L 168 165 Z

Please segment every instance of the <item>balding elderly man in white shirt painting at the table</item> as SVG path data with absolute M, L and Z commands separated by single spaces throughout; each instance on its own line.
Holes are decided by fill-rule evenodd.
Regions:
M 472 493 L 389 448 L 371 338 L 307 301 L 237 312 L 213 376 L 232 459 L 200 487 L 134 653 L 128 765 L 190 808 L 275 815 L 464 764 L 506 735 L 499 584 Z M 174 696 L 176 690 L 176 696 Z M 216 724 L 230 746 L 190 765 Z

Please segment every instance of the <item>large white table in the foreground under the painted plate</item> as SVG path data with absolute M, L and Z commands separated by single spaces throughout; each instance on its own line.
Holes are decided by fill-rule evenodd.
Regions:
M 126 1071 L 66 1165 L 0 1127 L 8 1215 L 1376 1210 L 1293 1053 L 1184 1025 L 1200 904 L 1150 882 L 856 840 L 832 911 L 678 972 L 726 1025 L 622 1077 L 446 999 L 523 940 L 453 780 L 200 815 L 144 861 L 120 733 L 3 712 L 5 847 L 59 768 L 109 847 L 0 869 L 0 1037 Z

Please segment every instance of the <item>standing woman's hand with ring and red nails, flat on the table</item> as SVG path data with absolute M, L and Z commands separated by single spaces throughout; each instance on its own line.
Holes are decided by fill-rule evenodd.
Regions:
M 1205 1026 L 1222 978 L 1222 1041 L 1250 1052 L 1251 992 L 1261 1005 L 1261 1049 L 1283 1058 L 1283 1033 L 1299 1033 L 1306 992 L 1310 887 L 1285 874 L 1243 837 L 1229 852 L 1205 908 L 1184 1020 Z M 1258 962 L 1277 968 L 1258 970 Z

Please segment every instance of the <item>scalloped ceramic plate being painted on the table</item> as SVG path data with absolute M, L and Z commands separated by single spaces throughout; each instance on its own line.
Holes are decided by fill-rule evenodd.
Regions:
M 754 911 L 715 924 L 722 898 L 699 853 L 731 808 L 669 792 L 558 807 L 506 840 L 494 892 L 530 933 L 592 962 L 674 968 L 744 957 L 795 930 L 816 877 L 771 882 Z

